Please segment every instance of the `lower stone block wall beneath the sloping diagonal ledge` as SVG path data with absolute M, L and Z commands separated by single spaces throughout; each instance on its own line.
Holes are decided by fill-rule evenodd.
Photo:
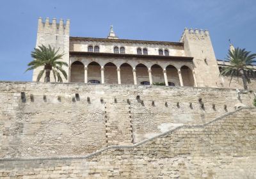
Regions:
M 255 108 L 85 157 L 1 159 L 2 178 L 255 178 Z

